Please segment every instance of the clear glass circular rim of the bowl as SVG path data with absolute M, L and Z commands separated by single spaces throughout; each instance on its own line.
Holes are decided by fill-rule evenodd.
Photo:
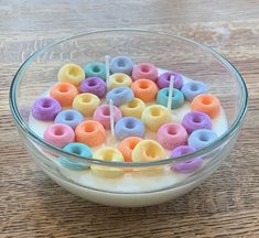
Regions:
M 185 41 L 187 43 L 191 43 L 203 51 L 211 53 L 213 56 L 215 56 L 219 62 L 223 63 L 223 65 L 235 76 L 237 79 L 239 86 L 240 86 L 240 98 L 241 98 L 241 105 L 239 112 L 231 123 L 231 126 L 228 128 L 227 131 L 225 131 L 220 137 L 218 137 L 217 140 L 215 140 L 213 143 L 209 145 L 197 150 L 193 153 L 182 155 L 179 158 L 170 158 L 170 159 L 163 159 L 163 160 L 158 160 L 158 161 L 149 161 L 149 162 L 114 162 L 114 161 L 104 161 L 104 160 L 98 160 L 98 159 L 89 159 L 89 158 L 83 158 L 80 155 L 76 155 L 69 152 L 64 151 L 63 149 L 56 148 L 47 142 L 45 142 L 42 138 L 40 138 L 33 130 L 29 128 L 29 126 L 23 121 L 22 116 L 20 115 L 20 111 L 18 109 L 17 105 L 17 89 L 19 86 L 19 80 L 21 78 L 22 73 L 26 71 L 26 67 L 30 65 L 31 62 L 33 62 L 37 56 L 42 55 L 45 53 L 48 48 L 56 46 L 61 43 L 64 43 L 66 41 L 74 40 L 76 37 L 85 36 L 85 35 L 91 35 L 91 34 L 101 34 L 101 33 L 110 33 L 110 32 L 136 32 L 136 33 L 148 33 L 148 34 L 157 34 L 161 36 L 166 36 L 166 37 L 175 37 L 182 41 Z M 62 40 L 55 41 L 51 44 L 47 44 L 46 46 L 37 50 L 36 52 L 32 53 L 19 67 L 15 75 L 13 76 L 11 86 L 10 86 L 10 91 L 9 91 L 9 104 L 10 104 L 10 110 L 11 113 L 14 118 L 15 123 L 18 125 L 18 128 L 21 129 L 32 141 L 34 141 L 36 144 L 40 144 L 44 149 L 50 150 L 53 153 L 57 153 L 58 155 L 62 156 L 68 156 L 69 160 L 74 162 L 85 162 L 89 164 L 99 164 L 99 165 L 105 165 L 105 166 L 116 166 L 116 167 L 147 167 L 147 166 L 158 166 L 158 165 L 165 165 L 165 164 L 171 164 L 172 162 L 180 162 L 180 161 L 187 161 L 196 156 L 201 156 L 206 154 L 207 152 L 212 151 L 213 149 L 222 145 L 225 141 L 227 141 L 231 136 L 238 130 L 244 121 L 244 118 L 247 112 L 247 106 L 248 106 L 248 90 L 247 86 L 245 84 L 245 80 L 240 73 L 236 69 L 236 67 L 228 62 L 223 55 L 214 51 L 213 48 L 195 42 L 194 40 L 187 39 L 185 36 L 181 35 L 173 35 L 169 32 L 160 32 L 160 31 L 151 31 L 151 30 L 144 30 L 144 29 L 131 29 L 131 28 L 122 28 L 122 29 L 106 29 L 106 30 L 95 30 L 95 31 L 89 31 L 89 32 L 82 32 L 78 34 L 74 34 L 72 36 L 63 37 Z

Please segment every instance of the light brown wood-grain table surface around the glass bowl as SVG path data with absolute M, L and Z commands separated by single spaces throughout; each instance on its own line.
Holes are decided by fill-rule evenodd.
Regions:
M 259 237 L 259 1 L 125 2 L 0 1 L 0 237 Z M 106 207 L 67 193 L 35 166 L 9 111 L 11 79 L 32 52 L 66 35 L 119 26 L 164 30 L 212 46 L 249 89 L 231 155 L 193 192 L 159 206 Z

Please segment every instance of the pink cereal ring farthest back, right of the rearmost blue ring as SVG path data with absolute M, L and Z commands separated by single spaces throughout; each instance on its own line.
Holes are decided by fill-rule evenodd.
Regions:
M 140 78 L 147 78 L 157 82 L 159 76 L 158 68 L 149 63 L 141 63 L 133 66 L 132 79 L 137 80 Z

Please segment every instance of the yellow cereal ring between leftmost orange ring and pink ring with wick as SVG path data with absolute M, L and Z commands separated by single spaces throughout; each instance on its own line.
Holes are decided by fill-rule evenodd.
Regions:
M 72 107 L 82 112 L 85 117 L 90 117 L 99 105 L 100 99 L 96 95 L 85 93 L 74 98 Z

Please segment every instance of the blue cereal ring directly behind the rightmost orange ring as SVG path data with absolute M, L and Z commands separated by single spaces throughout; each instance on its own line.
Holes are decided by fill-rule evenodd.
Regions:
M 186 100 L 192 101 L 197 95 L 207 94 L 208 88 L 205 84 L 197 80 L 190 80 L 182 87 L 182 93 Z

